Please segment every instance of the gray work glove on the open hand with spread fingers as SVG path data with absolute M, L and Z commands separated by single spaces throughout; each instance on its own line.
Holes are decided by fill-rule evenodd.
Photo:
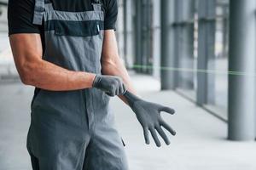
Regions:
M 170 140 L 167 138 L 166 133 L 164 132 L 162 127 L 165 127 L 166 130 L 172 133 L 173 136 L 176 134 L 176 132 L 162 119 L 162 117 L 160 116 L 160 111 L 165 111 L 167 113 L 170 113 L 171 115 L 173 115 L 175 111 L 169 107 L 139 99 L 137 96 L 131 94 L 128 91 L 126 91 L 124 96 L 127 99 L 129 105 L 131 106 L 132 111 L 135 112 L 138 121 L 143 126 L 146 144 L 150 143 L 148 137 L 148 130 L 150 131 L 154 142 L 158 147 L 160 147 L 161 144 L 156 132 L 160 134 L 160 136 L 162 137 L 162 139 L 164 139 L 167 145 L 170 144 Z

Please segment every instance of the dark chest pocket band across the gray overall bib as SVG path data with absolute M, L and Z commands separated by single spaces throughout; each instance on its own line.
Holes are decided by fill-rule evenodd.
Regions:
M 70 21 L 53 20 L 52 23 L 57 36 L 92 37 L 103 30 L 101 20 Z

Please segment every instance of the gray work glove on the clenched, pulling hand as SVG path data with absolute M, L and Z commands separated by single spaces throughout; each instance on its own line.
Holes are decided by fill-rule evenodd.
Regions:
M 125 84 L 120 77 L 96 75 L 92 87 L 98 88 L 112 97 L 126 92 Z

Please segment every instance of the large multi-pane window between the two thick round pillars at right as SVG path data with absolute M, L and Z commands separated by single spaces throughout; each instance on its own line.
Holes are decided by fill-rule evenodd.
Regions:
M 229 4 L 189 3 L 176 1 L 177 92 L 227 120 Z

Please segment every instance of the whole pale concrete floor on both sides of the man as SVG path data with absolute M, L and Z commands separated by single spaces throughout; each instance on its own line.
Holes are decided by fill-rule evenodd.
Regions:
M 256 144 L 230 142 L 227 126 L 174 92 L 159 92 L 158 81 L 133 75 L 139 94 L 172 106 L 177 114 L 162 114 L 177 131 L 172 144 L 157 148 L 144 144 L 143 131 L 133 112 L 112 100 L 119 133 L 126 143 L 131 170 L 255 170 Z M 29 170 L 26 133 L 33 88 L 20 82 L 0 84 L 0 170 Z

